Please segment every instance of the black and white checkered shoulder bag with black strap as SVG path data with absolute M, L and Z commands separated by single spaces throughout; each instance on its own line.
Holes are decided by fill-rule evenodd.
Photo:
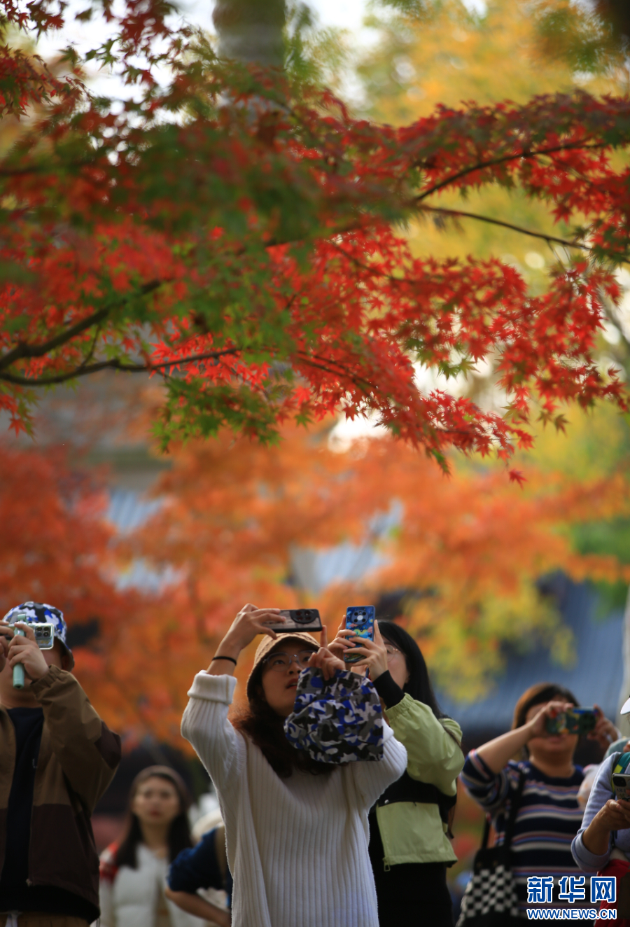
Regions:
M 490 820 L 485 819 L 484 838 L 474 857 L 473 878 L 461 899 L 457 927 L 509 927 L 523 922 L 519 916 L 516 883 L 510 865 L 510 847 L 524 781 L 522 772 L 510 802 L 504 842 L 500 846 L 488 847 Z

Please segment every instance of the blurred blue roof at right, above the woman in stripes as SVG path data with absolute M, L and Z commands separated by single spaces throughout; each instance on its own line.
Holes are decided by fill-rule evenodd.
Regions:
M 624 679 L 623 610 L 600 617 L 592 586 L 562 575 L 548 583 L 551 588 L 546 586 L 546 591 L 553 592 L 565 624 L 573 630 L 575 663 L 561 667 L 538 646 L 528 654 L 510 654 L 505 674 L 482 701 L 456 702 L 437 692 L 442 709 L 460 723 L 465 737 L 475 730 L 509 730 L 519 696 L 536 682 L 557 682 L 570 689 L 581 705 L 597 703 L 606 717 L 616 717 Z

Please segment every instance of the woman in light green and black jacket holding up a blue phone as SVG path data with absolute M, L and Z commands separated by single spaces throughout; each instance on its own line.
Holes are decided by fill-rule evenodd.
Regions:
M 335 644 L 359 638 L 341 629 Z M 424 658 L 407 631 L 374 623 L 374 641 L 360 639 L 364 660 L 397 740 L 407 748 L 407 771 L 370 812 L 370 857 L 380 927 L 452 927 L 447 866 L 457 861 L 448 841 L 464 763 L 460 725 L 437 706 Z

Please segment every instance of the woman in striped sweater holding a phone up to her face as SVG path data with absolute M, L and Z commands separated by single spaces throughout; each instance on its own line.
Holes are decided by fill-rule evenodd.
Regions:
M 579 705 L 577 699 L 563 686 L 548 682 L 532 686 L 516 704 L 512 729 L 471 750 L 461 772 L 468 792 L 492 815 L 497 844 L 503 842 L 510 802 L 524 777 L 512 839 L 512 871 L 523 919 L 528 876 L 552 875 L 557 885 L 561 876 L 580 874 L 571 853 L 584 813 L 577 799 L 584 771 L 573 764 L 579 738 L 566 732 L 549 734 L 546 729 L 548 717 L 557 717 L 573 705 Z M 605 750 L 619 731 L 597 710 L 597 726 L 587 736 Z M 512 758 L 519 753 L 522 759 Z M 562 907 L 557 894 L 556 888 L 553 905 Z

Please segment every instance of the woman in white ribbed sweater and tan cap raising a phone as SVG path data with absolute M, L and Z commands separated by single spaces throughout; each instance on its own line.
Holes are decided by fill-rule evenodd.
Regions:
M 384 725 L 384 757 L 346 766 L 317 763 L 284 737 L 297 677 L 329 678 L 344 663 L 304 633 L 276 635 L 278 609 L 246 605 L 206 672 L 195 676 L 182 733 L 212 777 L 234 879 L 233 927 L 378 927 L 368 855 L 368 811 L 407 765 Z M 231 723 L 233 667 L 267 634 L 247 681 L 248 710 Z

